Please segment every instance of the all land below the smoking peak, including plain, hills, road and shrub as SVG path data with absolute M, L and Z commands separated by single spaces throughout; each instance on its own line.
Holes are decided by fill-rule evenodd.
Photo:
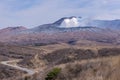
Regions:
M 0 30 L 0 80 L 120 80 L 119 30 L 43 26 Z

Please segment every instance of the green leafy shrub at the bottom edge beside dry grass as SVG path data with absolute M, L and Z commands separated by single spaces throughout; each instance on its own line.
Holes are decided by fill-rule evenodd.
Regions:
M 61 68 L 52 69 L 46 76 L 45 80 L 55 80 L 57 75 L 61 72 Z

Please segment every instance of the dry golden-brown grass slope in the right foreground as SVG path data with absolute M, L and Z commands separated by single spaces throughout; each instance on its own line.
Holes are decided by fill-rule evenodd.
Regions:
M 120 80 L 120 56 L 62 64 L 56 80 Z

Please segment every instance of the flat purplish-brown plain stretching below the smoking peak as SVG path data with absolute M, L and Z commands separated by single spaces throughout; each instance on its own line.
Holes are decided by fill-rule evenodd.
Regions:
M 0 30 L 0 42 L 8 44 L 19 44 L 19 45 L 35 45 L 42 46 L 47 44 L 56 43 L 68 43 L 74 44 L 77 41 L 87 41 L 90 42 L 100 42 L 100 43 L 110 43 L 119 45 L 120 43 L 120 31 L 111 29 L 101 29 L 96 27 L 91 27 L 88 29 L 78 29 L 78 30 L 54 30 L 50 29 L 51 32 L 47 31 L 47 28 L 41 32 L 35 31 L 34 29 L 26 29 L 25 27 L 8 27 Z M 83 44 L 84 44 L 83 43 Z

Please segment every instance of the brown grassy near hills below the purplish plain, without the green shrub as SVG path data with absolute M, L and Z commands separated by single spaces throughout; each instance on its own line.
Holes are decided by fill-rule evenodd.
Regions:
M 0 64 L 0 80 L 46 80 L 54 68 L 61 71 L 50 80 L 120 80 L 119 55 L 119 45 L 87 40 L 44 46 L 0 43 L 1 63 L 15 60 L 7 64 L 29 70 Z

